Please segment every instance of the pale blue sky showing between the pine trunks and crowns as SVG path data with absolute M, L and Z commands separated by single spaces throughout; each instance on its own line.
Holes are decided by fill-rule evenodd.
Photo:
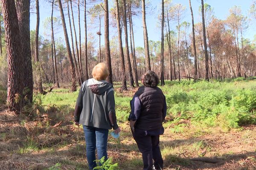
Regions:
M 111 3 L 111 0 L 109 0 Z M 208 3 L 212 8 L 214 8 L 214 14 L 217 18 L 221 20 L 225 20 L 227 16 L 229 15 L 229 9 L 232 6 L 241 6 L 242 13 L 245 16 L 248 16 L 250 18 L 250 15 L 248 14 L 250 4 L 252 3 L 252 0 L 204 0 L 205 3 Z M 150 0 L 151 2 L 151 11 L 147 11 L 146 14 L 146 23 L 148 28 L 148 39 L 149 40 L 160 40 L 161 37 L 161 30 L 159 27 L 157 27 L 157 15 L 160 12 L 160 5 L 161 0 Z M 173 0 L 172 3 L 181 3 L 184 6 L 186 6 L 186 14 L 183 19 L 183 21 L 187 21 L 191 23 L 191 14 L 189 9 L 189 0 Z M 194 12 L 194 20 L 195 23 L 201 22 L 201 18 L 198 14 L 198 7 L 201 5 L 201 0 L 191 0 L 192 8 Z M 74 4 L 73 6 L 76 7 Z M 82 11 L 81 11 L 82 12 Z M 51 14 L 51 4 L 46 3 L 45 1 L 40 1 L 40 29 L 39 34 L 44 35 L 44 28 L 43 28 L 43 21 L 46 17 L 50 17 Z M 59 11 L 55 10 L 54 12 L 55 17 L 60 17 Z M 76 27 L 78 26 L 78 17 L 77 14 L 75 14 L 75 24 Z M 67 16 L 66 16 L 66 24 L 67 24 L 67 30 L 69 33 L 69 25 L 67 22 Z M 30 17 L 30 28 L 31 30 L 35 29 L 35 23 L 36 23 L 36 16 L 35 14 L 31 14 Z M 143 44 L 143 28 L 142 28 L 142 20 L 140 17 L 134 17 L 134 39 L 135 39 L 135 46 L 144 46 Z M 81 39 L 82 42 L 84 42 L 84 20 L 83 20 L 83 12 L 81 13 Z M 102 32 L 104 32 L 104 24 L 102 24 Z M 171 26 L 175 28 L 176 24 L 172 23 Z M 255 25 L 252 21 L 249 23 L 249 28 L 244 32 L 244 37 L 249 38 L 250 40 L 253 40 L 253 36 L 256 34 L 256 31 L 254 29 Z M 78 28 L 76 28 L 77 36 L 78 36 Z M 89 32 L 92 32 L 96 36 L 96 40 L 98 40 L 98 36 L 96 35 L 96 30 L 93 28 L 88 28 Z M 110 38 L 113 35 L 117 34 L 116 28 L 110 28 Z M 56 37 L 63 37 L 63 30 L 62 27 L 57 34 Z M 104 43 L 104 36 L 102 36 L 102 43 Z

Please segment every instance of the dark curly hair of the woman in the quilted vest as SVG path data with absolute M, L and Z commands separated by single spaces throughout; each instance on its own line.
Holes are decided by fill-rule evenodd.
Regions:
M 146 87 L 157 87 L 159 77 L 154 71 L 147 71 L 142 77 L 143 85 Z

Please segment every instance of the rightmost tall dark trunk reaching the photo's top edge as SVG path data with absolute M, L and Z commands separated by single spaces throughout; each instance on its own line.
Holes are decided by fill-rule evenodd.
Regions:
M 202 4 L 201 10 L 202 10 L 202 23 L 203 23 L 203 36 L 204 36 L 205 79 L 209 81 L 208 52 L 207 52 L 205 22 L 204 22 L 204 0 L 201 0 L 201 4 Z

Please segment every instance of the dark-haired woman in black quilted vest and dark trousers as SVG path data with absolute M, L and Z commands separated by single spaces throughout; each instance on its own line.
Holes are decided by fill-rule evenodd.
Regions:
M 143 170 L 162 170 L 159 136 L 164 132 L 162 123 L 167 110 L 166 98 L 157 87 L 159 78 L 154 71 L 147 71 L 141 81 L 143 86 L 134 94 L 130 103 L 130 127 L 142 153 Z

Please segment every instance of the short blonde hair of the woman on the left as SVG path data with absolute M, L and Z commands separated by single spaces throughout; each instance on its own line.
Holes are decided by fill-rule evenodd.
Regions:
M 106 65 L 103 62 L 100 62 L 99 64 L 94 66 L 92 74 L 93 74 L 93 79 L 96 79 L 98 81 L 105 80 L 109 75 L 109 71 Z

